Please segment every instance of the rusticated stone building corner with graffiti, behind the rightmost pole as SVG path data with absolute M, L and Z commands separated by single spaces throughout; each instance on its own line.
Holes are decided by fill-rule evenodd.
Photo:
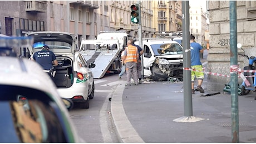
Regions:
M 207 71 L 223 75 L 230 75 L 230 20 L 229 1 L 209 1 L 210 20 L 210 49 L 207 60 Z M 255 56 L 256 45 L 256 1 L 237 1 L 237 42 L 242 44 L 243 49 L 238 53 Z M 238 55 L 239 68 L 248 66 L 248 59 Z M 238 79 L 239 84 L 242 79 Z M 224 84 L 230 78 L 223 76 L 208 75 L 208 90 L 223 91 Z M 223 85 L 220 85 L 223 84 Z

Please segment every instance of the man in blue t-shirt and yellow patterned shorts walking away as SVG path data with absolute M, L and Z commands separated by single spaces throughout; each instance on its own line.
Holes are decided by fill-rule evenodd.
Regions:
M 191 54 L 191 87 L 192 87 L 192 94 L 195 94 L 194 90 L 194 81 L 195 78 L 198 79 L 198 86 L 196 90 L 204 93 L 204 89 L 201 87 L 204 79 L 204 71 L 203 66 L 200 61 L 200 53 L 204 53 L 204 49 L 201 47 L 199 43 L 195 42 L 194 35 L 190 35 L 190 54 Z M 194 71 L 195 70 L 195 71 Z

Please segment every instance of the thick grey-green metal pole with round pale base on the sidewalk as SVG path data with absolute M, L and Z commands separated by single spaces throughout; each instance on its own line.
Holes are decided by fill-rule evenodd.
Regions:
M 189 1 L 182 1 L 182 33 L 183 33 L 183 68 L 191 67 L 190 33 L 189 33 Z M 191 71 L 183 70 L 184 77 L 184 116 L 193 116 Z

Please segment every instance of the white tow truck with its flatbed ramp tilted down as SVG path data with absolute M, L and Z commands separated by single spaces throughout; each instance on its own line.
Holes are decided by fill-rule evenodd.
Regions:
M 101 79 L 106 73 L 121 70 L 121 48 L 119 40 L 82 39 L 80 53 L 88 63 L 96 64 L 91 69 L 93 78 Z

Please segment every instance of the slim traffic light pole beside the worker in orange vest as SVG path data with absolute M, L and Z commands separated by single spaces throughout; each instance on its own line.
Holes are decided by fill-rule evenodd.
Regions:
M 137 1 L 137 4 L 139 4 L 139 27 L 138 27 L 138 33 L 139 33 L 139 46 L 142 47 L 142 29 L 141 29 L 141 6 L 140 1 Z M 141 56 L 141 79 L 144 79 L 144 65 L 143 65 L 143 56 Z

